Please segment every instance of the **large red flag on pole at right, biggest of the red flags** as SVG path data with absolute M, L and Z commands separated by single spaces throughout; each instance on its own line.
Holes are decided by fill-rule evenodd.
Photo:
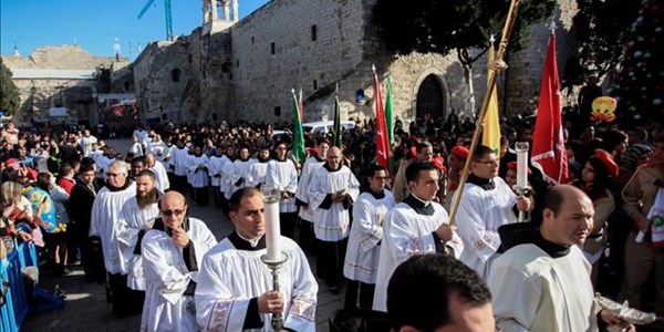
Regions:
M 532 165 L 539 168 L 544 180 L 551 184 L 564 184 L 568 178 L 568 158 L 561 117 L 556 33 L 551 31 L 532 137 Z

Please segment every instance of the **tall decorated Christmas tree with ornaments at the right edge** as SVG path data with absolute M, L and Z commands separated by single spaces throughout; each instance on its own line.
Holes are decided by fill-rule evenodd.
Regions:
M 610 95 L 618 100 L 620 123 L 639 125 L 664 121 L 664 22 L 662 0 L 643 0 L 630 27 Z

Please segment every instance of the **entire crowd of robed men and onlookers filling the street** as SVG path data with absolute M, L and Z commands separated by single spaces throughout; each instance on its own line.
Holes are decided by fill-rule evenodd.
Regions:
M 469 120 L 453 112 L 404 128 L 397 117 L 390 169 L 375 164 L 373 121 L 345 131 L 343 146 L 331 144 L 334 133 L 304 133 L 302 162 L 290 128 L 277 126 L 287 132 L 277 137 L 270 124 L 139 126 L 117 152 L 87 129 L 10 122 L 0 249 L 34 242 L 62 274 L 80 262 L 87 281 L 106 284 L 113 312 L 142 314 L 146 331 L 270 330 L 277 312 L 284 328 L 314 331 L 319 284 L 303 252 L 330 292 L 345 286 L 344 308 L 387 312 L 395 331 L 627 326 L 598 307 L 595 291 L 664 317 L 664 237 L 653 221 L 664 210 L 660 124 L 564 123 L 569 183 L 551 186 L 530 167 L 522 195 L 513 146 L 532 142 L 529 121 L 505 122 L 499 152 L 470 154 Z M 279 292 L 260 258 L 261 187 L 280 191 Z M 235 231 L 218 241 L 188 201 L 222 210 Z M 520 215 L 520 232 L 501 230 Z M 464 322 L 466 310 L 477 317 Z

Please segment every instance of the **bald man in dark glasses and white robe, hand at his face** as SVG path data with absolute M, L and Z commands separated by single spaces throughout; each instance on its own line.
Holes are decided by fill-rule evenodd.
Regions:
M 194 310 L 198 267 L 217 240 L 205 222 L 187 217 L 179 193 L 166 193 L 159 210 L 162 217 L 141 242 L 146 284 L 141 331 L 199 331 Z

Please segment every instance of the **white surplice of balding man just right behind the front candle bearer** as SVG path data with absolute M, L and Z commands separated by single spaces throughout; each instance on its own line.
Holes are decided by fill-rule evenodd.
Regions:
M 360 195 L 360 183 L 346 166 L 341 166 L 334 172 L 328 170 L 324 166 L 320 167 L 309 183 L 313 232 L 319 240 L 339 241 L 349 237 L 351 218 L 343 203 L 332 203 L 330 208 L 321 207 L 330 195 L 342 191 L 349 194 L 352 201 Z

